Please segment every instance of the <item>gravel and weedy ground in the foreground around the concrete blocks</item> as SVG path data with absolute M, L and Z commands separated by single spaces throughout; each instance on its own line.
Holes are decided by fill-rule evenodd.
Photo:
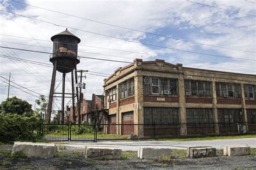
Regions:
M 121 160 L 85 159 L 82 151 L 59 151 L 54 158 L 25 158 L 24 155 L 11 156 L 10 151 L 1 150 L 0 169 L 244 169 L 256 168 L 256 150 L 252 155 L 189 159 L 185 150 L 174 150 L 171 158 L 141 160 L 137 152 L 122 152 Z

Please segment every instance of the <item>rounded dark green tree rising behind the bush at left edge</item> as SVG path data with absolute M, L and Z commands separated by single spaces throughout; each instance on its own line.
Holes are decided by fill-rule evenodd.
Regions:
M 27 101 L 17 98 L 16 96 L 7 98 L 0 104 L 1 114 L 18 114 L 32 116 L 32 104 Z

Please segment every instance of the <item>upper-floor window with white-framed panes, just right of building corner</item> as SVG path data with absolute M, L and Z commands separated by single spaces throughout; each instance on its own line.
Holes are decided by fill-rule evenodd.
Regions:
M 177 95 L 177 79 L 164 77 L 143 77 L 144 94 Z

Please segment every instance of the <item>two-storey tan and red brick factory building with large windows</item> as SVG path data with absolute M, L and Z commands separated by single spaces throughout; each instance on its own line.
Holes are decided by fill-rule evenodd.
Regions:
M 256 75 L 135 59 L 104 79 L 104 96 L 104 122 L 144 124 L 128 130 L 133 134 L 150 135 L 145 124 L 169 124 L 157 129 L 163 134 L 176 124 L 180 135 L 194 133 L 189 124 L 213 124 L 199 130 L 219 133 L 226 130 L 225 124 L 248 122 L 247 130 L 256 130 Z M 107 133 L 124 131 L 124 125 L 118 125 Z

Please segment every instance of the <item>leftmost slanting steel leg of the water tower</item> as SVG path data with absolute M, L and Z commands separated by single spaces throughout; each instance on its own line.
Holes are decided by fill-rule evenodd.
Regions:
M 47 113 L 46 113 L 46 117 L 45 117 L 46 123 L 51 122 L 51 111 L 52 111 L 52 102 L 53 102 L 53 93 L 54 93 L 54 87 L 55 87 L 55 79 L 56 79 L 56 69 L 57 69 L 57 61 L 55 61 L 54 65 L 53 65 L 53 72 L 52 72 L 52 78 L 51 78 L 51 88 L 50 88 L 50 94 L 49 94 L 49 100 L 48 100 Z

